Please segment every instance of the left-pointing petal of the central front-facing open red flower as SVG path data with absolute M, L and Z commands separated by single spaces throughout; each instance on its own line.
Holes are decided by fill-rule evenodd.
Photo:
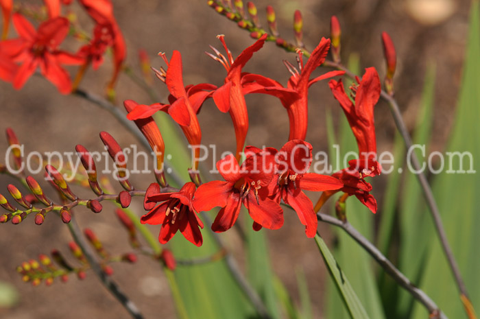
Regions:
M 215 206 L 224 207 L 232 190 L 230 182 L 213 180 L 200 185 L 195 191 L 193 207 L 196 211 L 210 211 Z

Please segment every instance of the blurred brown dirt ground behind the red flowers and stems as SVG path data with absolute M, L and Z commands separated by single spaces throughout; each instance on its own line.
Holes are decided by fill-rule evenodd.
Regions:
M 186 84 L 221 84 L 225 71 L 204 54 L 204 51 L 210 51 L 208 45 L 220 48 L 215 36 L 225 34 L 232 54 L 237 56 L 252 43 L 247 32 L 216 14 L 204 0 L 113 2 L 117 21 L 129 48 L 128 64 L 137 73 L 137 49 L 145 49 L 155 67 L 163 65 L 161 59 L 156 57 L 159 51 L 164 51 L 169 56 L 176 49 L 182 53 Z M 426 2 L 433 5 L 426 5 Z M 398 54 L 396 95 L 409 128 L 413 127 L 415 121 L 427 63 L 433 62 L 436 65 L 437 83 L 433 119 L 435 134 L 431 150 L 442 150 L 455 111 L 470 1 L 257 0 L 255 3 L 263 25 L 266 25 L 263 8 L 268 4 L 274 5 L 280 33 L 289 40 L 293 40 L 290 27 L 293 11 L 300 9 L 304 14 L 304 42 L 308 49 L 312 49 L 321 36 L 328 36 L 330 16 L 337 15 L 342 25 L 342 57 L 346 60 L 349 54 L 359 54 L 361 68 L 376 67 L 381 78 L 385 74 L 385 67 L 380 34 L 383 31 L 389 32 Z M 77 9 L 77 5 L 73 5 L 72 10 Z M 13 30 L 10 31 L 10 36 L 14 36 Z M 278 49 L 273 43 L 267 43 L 248 62 L 245 71 L 261 73 L 286 84 L 289 73 L 282 63 L 285 59 L 295 62 L 293 54 Z M 98 72 L 88 72 L 82 87 L 102 94 L 110 71 L 110 60 L 107 58 Z M 320 74 L 320 71 L 317 73 Z M 167 90 L 163 83 L 158 81 L 155 87 L 160 96 L 166 96 Z M 310 96 L 307 141 L 312 143 L 314 150 L 326 150 L 325 108 L 332 108 L 336 117 L 339 115 L 339 107 L 326 83 L 315 84 Z M 125 75 L 120 79 L 117 91 L 117 101 L 124 99 L 150 103 L 147 95 Z M 160 102 L 167 101 L 163 99 Z M 247 143 L 281 147 L 288 137 L 288 117 L 282 106 L 272 97 L 249 96 L 247 102 L 250 110 Z M 395 128 L 383 102 L 376 107 L 375 116 L 379 151 L 390 150 Z M 232 150 L 235 135 L 228 115 L 217 112 L 213 102 L 208 102 L 199 118 L 204 143 L 217 143 L 219 150 Z M 30 79 L 21 91 L 14 91 L 10 84 L 0 82 L 0 119 L 0 130 L 14 128 L 21 143 L 29 151 L 71 152 L 77 143 L 82 143 L 88 150 L 101 150 L 98 138 L 101 130 L 110 132 L 122 145 L 135 143 L 134 138 L 105 110 L 78 97 L 62 96 L 49 82 L 39 77 Z M 0 149 L 5 150 L 6 147 L 6 141 L 1 139 Z M 1 176 L 0 193 L 5 195 L 6 185 L 11 182 L 14 181 Z M 142 185 L 143 181 L 137 182 Z M 379 178 L 375 183 L 382 185 L 383 179 Z M 143 185 L 146 187 L 147 183 L 143 182 Z M 123 233 L 119 235 L 117 221 L 112 222 L 112 207 L 106 205 L 104 213 L 97 215 L 78 209 L 76 216 L 79 224 L 93 228 L 111 251 L 121 252 L 127 239 Z M 134 202 L 134 208 L 139 215 L 143 213 L 140 200 Z M 327 235 L 329 228 L 324 225 L 321 227 Z M 155 233 L 156 231 L 154 229 Z M 270 253 L 275 261 L 274 271 L 284 281 L 293 298 L 298 300 L 296 277 L 292 274 L 296 268 L 303 268 L 309 278 L 311 296 L 320 300 L 314 303 L 315 318 L 323 318 L 321 300 L 327 277 L 315 244 L 304 236 L 302 226 L 296 216 L 292 215 L 286 216 L 285 226 L 280 231 L 270 231 L 268 235 Z M 326 237 L 331 239 L 331 236 Z M 0 282 L 14 285 L 19 291 L 20 300 L 11 309 L 0 308 L 0 318 L 129 318 L 92 273 L 88 273 L 84 281 L 72 276 L 69 283 L 55 283 L 51 287 L 32 287 L 21 282 L 21 276 L 15 272 L 17 265 L 36 258 L 39 253 L 48 253 L 52 248 L 67 252 L 69 240 L 69 232 L 58 218 L 47 218 L 42 226 L 36 226 L 33 218 L 18 226 L 10 223 L 1 225 Z M 153 261 L 141 258 L 134 266 L 119 263 L 114 268 L 113 278 L 128 292 L 145 318 L 175 318 L 166 280 L 163 275 L 159 275 L 158 267 Z

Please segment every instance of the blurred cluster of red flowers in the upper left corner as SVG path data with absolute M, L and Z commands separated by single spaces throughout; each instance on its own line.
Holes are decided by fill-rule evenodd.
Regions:
M 126 47 L 121 31 L 113 15 L 110 0 L 78 0 L 89 16 L 95 21 L 93 35 L 89 42 L 76 53 L 60 49 L 60 45 L 72 29 L 76 38 L 86 38 L 80 30 L 75 29 L 64 16 L 60 16 L 62 5 L 69 5 L 72 0 L 45 0 L 48 16 L 40 20 L 34 27 L 27 18 L 19 12 L 13 12 L 12 1 L 2 0 L 0 6 L 3 12 L 3 36 L 8 34 L 10 17 L 19 35 L 0 41 L 0 79 L 12 82 L 14 88 L 22 88 L 25 82 L 37 69 L 58 88 L 62 94 L 68 94 L 76 88 L 87 67 L 93 64 L 97 69 L 103 61 L 106 49 L 112 48 L 114 72 L 108 84 L 111 91 L 123 60 Z M 75 81 L 72 83 L 64 65 L 80 65 Z

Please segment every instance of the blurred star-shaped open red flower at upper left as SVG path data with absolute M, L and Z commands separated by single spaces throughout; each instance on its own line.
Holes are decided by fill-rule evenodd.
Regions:
M 36 30 L 21 14 L 14 14 L 13 23 L 20 38 L 1 41 L 0 44 L 3 54 L 15 62 L 22 62 L 13 79 L 14 88 L 21 88 L 40 67 L 42 75 L 57 86 L 60 93 L 70 93 L 69 74 L 61 64 L 80 64 L 82 60 L 58 49 L 69 32 L 69 21 L 60 17 L 49 19 Z

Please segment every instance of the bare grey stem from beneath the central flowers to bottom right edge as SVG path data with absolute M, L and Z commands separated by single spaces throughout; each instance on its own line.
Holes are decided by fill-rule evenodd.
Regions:
M 414 298 L 416 298 L 425 308 L 429 311 L 429 314 L 436 316 L 433 318 L 439 319 L 447 319 L 445 314 L 440 311 L 440 308 L 435 304 L 433 300 L 427 294 L 425 294 L 420 288 L 416 287 L 411 283 L 411 281 L 398 270 L 392 261 L 389 261 L 387 257 L 385 257 L 381 251 L 374 246 L 368 239 L 363 237 L 355 227 L 353 227 L 349 222 L 342 222 L 337 218 L 326 215 L 322 213 L 317 213 L 317 219 L 320 222 L 326 222 L 328 224 L 332 224 L 342 228 L 352 239 L 357 241 L 360 246 L 362 246 L 380 265 L 381 267 L 387 272 L 392 278 L 402 286 L 407 292 L 409 292 Z M 432 318 L 432 317 L 431 317 Z

